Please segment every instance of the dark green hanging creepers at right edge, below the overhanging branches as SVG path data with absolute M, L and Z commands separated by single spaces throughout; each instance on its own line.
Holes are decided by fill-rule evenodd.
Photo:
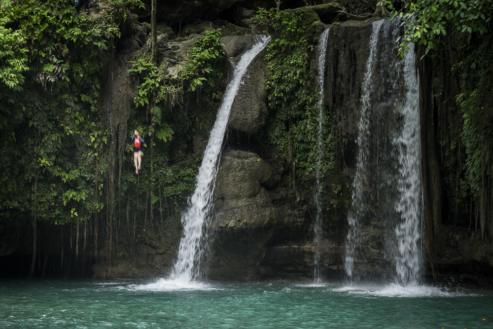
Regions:
M 466 184 L 479 204 L 481 228 L 493 235 L 493 37 L 489 34 L 464 46 L 464 55 L 454 68 L 461 75 L 461 93 L 457 96 L 464 123 Z M 490 219 L 490 220 L 488 220 Z

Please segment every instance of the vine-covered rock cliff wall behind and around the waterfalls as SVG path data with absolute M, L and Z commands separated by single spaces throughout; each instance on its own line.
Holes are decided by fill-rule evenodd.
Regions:
M 2 18 L 1 28 L 26 37 L 24 43 L 2 39 L 2 46 L 15 44 L 9 56 L 23 61 L 27 71 L 18 83 L 24 90 L 0 87 L 0 257 L 16 264 L 1 275 L 27 276 L 30 267 L 32 275 L 44 277 L 169 273 L 181 236 L 180 214 L 232 67 L 255 33 L 267 33 L 273 40 L 246 74 L 224 153 L 236 156 L 238 168 L 244 168 L 229 176 L 253 182 L 248 185 L 255 186 L 255 193 L 217 195 L 208 273 L 243 280 L 311 277 L 318 115 L 314 62 L 327 24 L 321 260 L 324 275 L 343 274 L 361 84 L 371 23 L 378 18 L 347 20 L 339 13 L 344 8 L 340 3 L 297 8 L 302 3 L 290 1 L 291 9 L 277 13 L 267 11 L 272 7 L 267 4 L 253 12 L 258 1 L 244 2 L 241 7 L 222 1 L 219 11 L 206 16 L 178 9 L 173 17 L 162 15 L 155 66 L 145 55 L 148 9 L 139 9 L 138 1 L 113 11 L 101 1 L 87 17 L 74 16 L 65 4 L 65 11 L 56 9 L 56 3 L 43 4 L 38 12 L 46 25 L 37 35 L 28 33 L 36 24 L 22 18 L 22 12 L 2 7 L 9 15 L 3 16 L 8 21 Z M 371 4 L 351 12 L 359 14 L 365 6 Z M 50 14 L 56 10 L 62 16 Z M 178 14 L 185 19 L 178 20 Z M 53 35 L 58 25 L 65 32 Z M 451 101 L 470 89 L 464 81 L 471 72 L 452 70 L 459 64 L 470 68 L 468 53 L 459 51 L 466 42 L 453 38 L 444 53 L 418 60 L 427 250 L 435 273 L 440 264 L 457 269 L 459 263 L 473 264 L 474 272 L 491 266 L 493 259 L 491 250 L 484 249 L 488 244 L 476 241 L 481 230 L 482 239 L 491 241 L 491 212 L 483 207 L 484 193 L 464 183 L 474 147 L 462 138 L 465 112 Z M 0 68 L 5 67 L 0 59 Z M 489 81 L 482 83 L 489 86 Z M 256 88 L 255 97 L 246 88 Z M 488 90 L 482 92 L 491 98 Z M 478 104 L 486 109 L 482 120 L 488 121 L 491 104 Z M 146 146 L 139 175 L 130 144 L 134 127 Z M 486 137 L 476 146 L 480 149 L 489 145 L 484 143 L 487 135 L 481 136 Z M 221 166 L 226 170 L 228 159 Z M 249 172 L 257 170 L 265 175 Z M 485 177 L 481 186 L 491 182 Z M 444 230 L 444 225 L 452 228 Z M 450 232 L 454 229 L 460 234 Z M 472 245 L 474 252 L 457 253 L 457 246 Z

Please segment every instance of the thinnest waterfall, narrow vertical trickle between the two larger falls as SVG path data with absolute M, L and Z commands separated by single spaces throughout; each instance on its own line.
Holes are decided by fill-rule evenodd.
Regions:
M 317 74 L 317 89 L 318 89 L 318 134 L 317 134 L 317 172 L 316 172 L 316 186 L 314 188 L 314 200 L 317 207 L 317 214 L 313 223 L 314 226 L 314 246 L 315 253 L 313 259 L 314 266 L 314 281 L 320 282 L 320 254 L 322 240 L 322 202 L 320 199 L 321 190 L 321 166 L 323 161 L 323 121 L 324 121 L 324 107 L 323 107 L 323 82 L 325 78 L 325 53 L 327 50 L 327 40 L 329 37 L 329 28 L 325 29 L 320 36 L 318 42 L 318 74 Z

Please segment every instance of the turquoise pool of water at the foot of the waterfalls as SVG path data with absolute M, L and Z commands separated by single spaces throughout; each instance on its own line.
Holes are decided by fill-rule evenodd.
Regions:
M 0 281 L 0 328 L 493 328 L 493 293 L 389 285 Z

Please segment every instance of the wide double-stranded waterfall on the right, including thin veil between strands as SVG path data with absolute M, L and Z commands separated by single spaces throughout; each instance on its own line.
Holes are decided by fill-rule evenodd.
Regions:
M 357 164 L 345 269 L 351 282 L 421 272 L 422 185 L 418 82 L 413 49 L 396 57 L 400 20 L 376 21 L 361 90 Z

